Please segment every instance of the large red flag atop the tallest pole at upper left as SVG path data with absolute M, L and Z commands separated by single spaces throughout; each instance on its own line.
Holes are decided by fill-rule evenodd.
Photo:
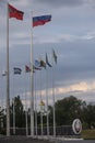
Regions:
M 24 12 L 15 9 L 13 6 L 9 4 L 9 18 L 15 18 L 17 20 L 23 20 Z

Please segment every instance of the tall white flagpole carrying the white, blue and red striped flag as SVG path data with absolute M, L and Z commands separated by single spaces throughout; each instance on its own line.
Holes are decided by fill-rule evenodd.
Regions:
M 33 12 L 31 15 L 31 135 L 34 136 Z

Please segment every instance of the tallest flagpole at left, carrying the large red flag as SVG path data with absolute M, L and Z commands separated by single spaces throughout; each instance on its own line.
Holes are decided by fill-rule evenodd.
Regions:
M 10 136 L 9 3 L 7 3 L 7 136 Z

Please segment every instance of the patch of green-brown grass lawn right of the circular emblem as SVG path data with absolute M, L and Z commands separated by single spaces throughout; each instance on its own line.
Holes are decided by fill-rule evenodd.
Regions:
M 95 140 L 95 130 L 83 130 L 81 135 L 86 140 Z

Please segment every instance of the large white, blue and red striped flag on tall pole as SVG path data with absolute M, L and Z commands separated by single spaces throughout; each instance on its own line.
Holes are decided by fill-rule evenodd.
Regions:
M 51 15 L 34 16 L 33 18 L 33 26 L 44 25 L 49 21 L 51 21 Z

